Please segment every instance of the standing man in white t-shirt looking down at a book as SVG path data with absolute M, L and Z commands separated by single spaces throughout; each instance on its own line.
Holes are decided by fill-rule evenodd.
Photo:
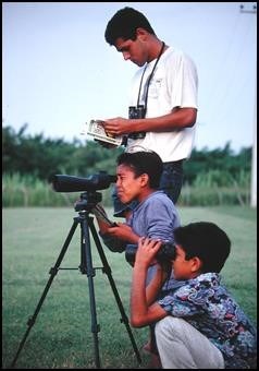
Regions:
M 128 118 L 107 119 L 104 130 L 122 135 L 126 152 L 146 148 L 159 154 L 163 161 L 160 189 L 175 204 L 183 183 L 183 161 L 194 145 L 196 67 L 183 51 L 159 39 L 146 16 L 133 8 L 119 10 L 104 36 L 125 60 L 139 67 L 133 79 Z M 115 200 L 114 215 L 123 213 Z

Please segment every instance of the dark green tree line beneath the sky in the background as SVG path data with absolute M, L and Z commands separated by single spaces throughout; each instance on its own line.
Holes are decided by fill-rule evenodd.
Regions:
M 48 180 L 53 173 L 87 177 L 104 170 L 114 173 L 116 156 L 123 147 L 107 149 L 94 141 L 47 139 L 26 133 L 27 124 L 17 132 L 2 128 L 2 175 L 20 173 Z M 238 182 L 240 175 L 250 175 L 251 147 L 234 153 L 230 143 L 223 148 L 193 149 L 184 165 L 184 183 L 193 184 L 202 177 L 213 178 L 219 187 Z

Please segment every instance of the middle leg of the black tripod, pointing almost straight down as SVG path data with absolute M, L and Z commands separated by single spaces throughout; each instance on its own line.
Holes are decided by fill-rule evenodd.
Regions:
M 100 355 L 99 355 L 99 345 L 98 345 L 98 332 L 100 331 L 100 326 L 97 324 L 96 300 L 95 300 L 95 288 L 94 288 L 94 276 L 96 275 L 96 273 L 95 273 L 95 268 L 92 267 L 89 228 L 88 228 L 87 219 L 85 216 L 82 217 L 81 227 L 82 227 L 81 271 L 83 274 L 86 273 L 88 277 L 90 313 L 91 313 L 91 333 L 94 336 L 95 359 L 96 359 L 97 369 L 100 369 Z

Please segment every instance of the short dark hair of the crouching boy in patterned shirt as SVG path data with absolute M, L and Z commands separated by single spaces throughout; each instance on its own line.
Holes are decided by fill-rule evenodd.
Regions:
M 186 260 L 197 256 L 201 260 L 201 272 L 219 273 L 230 254 L 231 241 L 215 224 L 190 223 L 174 230 L 175 243 L 186 253 Z

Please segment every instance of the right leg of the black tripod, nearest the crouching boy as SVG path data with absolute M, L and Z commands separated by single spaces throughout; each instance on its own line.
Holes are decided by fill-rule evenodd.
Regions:
M 115 297 L 118 307 L 119 307 L 120 312 L 121 312 L 121 315 L 122 315 L 121 322 L 123 322 L 123 323 L 125 324 L 126 330 L 127 330 L 127 333 L 128 333 L 128 336 L 130 336 L 131 342 L 132 342 L 133 349 L 134 349 L 134 351 L 135 351 L 135 354 L 136 354 L 138 363 L 141 363 L 141 358 L 140 358 L 140 355 L 139 355 L 137 345 L 136 345 L 136 343 L 135 343 L 135 339 L 134 339 L 134 337 L 133 337 L 132 328 L 131 328 L 131 326 L 130 326 L 130 324 L 128 324 L 128 319 L 127 319 L 126 313 L 125 313 L 125 311 L 124 311 L 124 308 L 123 308 L 123 304 L 122 304 L 120 295 L 119 295 L 119 292 L 118 292 L 118 289 L 116 289 L 114 279 L 113 279 L 112 274 L 111 274 L 111 268 L 110 268 L 110 266 L 109 266 L 109 264 L 108 264 L 108 261 L 107 261 L 107 258 L 106 258 L 106 255 L 104 255 L 104 252 L 103 252 L 102 246 L 101 246 L 101 243 L 100 243 L 99 236 L 98 236 L 98 234 L 97 234 L 97 231 L 96 231 L 96 228 L 95 228 L 92 218 L 89 218 L 89 217 L 88 217 L 88 223 L 89 223 L 89 227 L 90 227 L 90 230 L 91 230 L 94 240 L 95 240 L 95 242 L 96 242 L 97 250 L 98 250 L 98 252 L 99 252 L 99 255 L 100 255 L 100 259 L 101 259 L 101 262 L 102 262 L 102 265 L 103 265 L 103 272 L 107 274 L 107 276 L 108 276 L 108 278 L 109 278 L 109 282 L 110 282 L 110 285 L 111 285 L 113 295 L 114 295 L 114 297 Z

